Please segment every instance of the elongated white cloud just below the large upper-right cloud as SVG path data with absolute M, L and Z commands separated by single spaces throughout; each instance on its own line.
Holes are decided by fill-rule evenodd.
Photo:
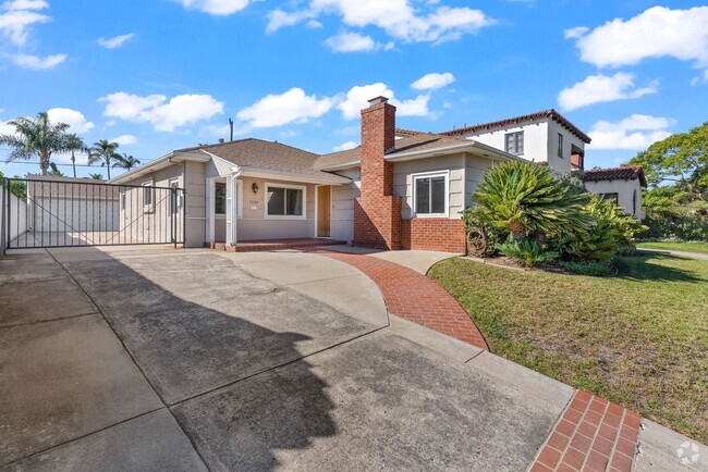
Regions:
M 594 103 L 601 103 L 630 98 L 639 98 L 656 94 L 658 83 L 637 88 L 634 74 L 618 72 L 614 75 L 590 75 L 572 87 L 564 88 L 558 95 L 558 103 L 563 110 L 575 110 Z

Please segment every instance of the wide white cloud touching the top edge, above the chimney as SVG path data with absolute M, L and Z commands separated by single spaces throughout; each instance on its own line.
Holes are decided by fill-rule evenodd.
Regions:
M 350 27 L 377 26 L 405 42 L 441 42 L 495 24 L 484 12 L 468 7 L 438 7 L 437 1 L 415 7 L 413 3 L 412 0 L 310 0 L 309 7 L 302 11 L 272 11 L 266 29 L 272 33 L 320 14 L 335 14 Z

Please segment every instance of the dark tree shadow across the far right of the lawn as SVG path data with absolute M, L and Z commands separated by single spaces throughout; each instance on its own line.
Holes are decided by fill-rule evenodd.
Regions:
M 697 276 L 693 271 L 652 263 L 652 261 L 693 261 L 689 258 L 662 253 L 646 252 L 639 256 L 618 258 L 614 265 L 620 271 L 617 278 L 628 281 L 664 281 L 706 283 L 706 278 Z

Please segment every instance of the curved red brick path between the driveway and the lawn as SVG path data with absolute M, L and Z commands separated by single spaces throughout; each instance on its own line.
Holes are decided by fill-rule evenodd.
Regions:
M 444 288 L 425 275 L 370 256 L 327 250 L 315 252 L 364 272 L 381 289 L 389 313 L 489 350 L 487 341 L 465 309 Z

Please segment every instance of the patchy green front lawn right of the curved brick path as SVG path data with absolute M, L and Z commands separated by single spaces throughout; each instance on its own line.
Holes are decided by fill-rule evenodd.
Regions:
M 429 276 L 492 352 L 708 443 L 708 261 L 622 258 L 615 277 L 449 259 Z

